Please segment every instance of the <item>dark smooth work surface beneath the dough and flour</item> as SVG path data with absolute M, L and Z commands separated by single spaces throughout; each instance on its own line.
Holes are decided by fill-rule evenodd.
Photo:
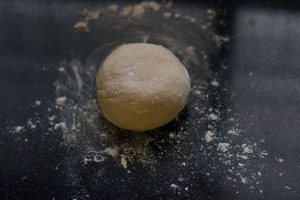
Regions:
M 122 6 L 133 2 L 116 3 Z M 104 10 L 108 4 L 110 1 L 0 1 L 0 198 L 299 199 L 300 4 L 173 2 L 171 11 L 194 16 L 196 23 L 163 18 L 164 8 L 138 19 L 116 19 Z M 89 23 L 89 32 L 75 32 L 72 26 L 82 19 L 78 11 L 84 7 L 104 11 L 98 20 Z M 210 33 L 213 30 L 230 37 L 220 46 L 213 43 L 208 30 L 200 28 L 207 20 L 207 8 L 218 10 L 208 28 Z M 153 133 L 151 141 L 168 140 L 165 132 L 176 132 L 181 126 L 186 136 L 163 144 L 151 143 L 152 164 L 133 160 L 124 169 L 120 157 L 84 164 L 84 148 L 95 147 L 97 139 L 86 139 L 93 138 L 86 133 L 78 135 L 76 145 L 65 142 L 67 133 L 53 130 L 49 112 L 59 119 L 56 122 L 63 120 L 67 125 L 68 116 L 75 112 L 67 108 L 55 111 L 55 98 L 66 95 L 72 105 L 82 103 L 85 96 L 95 99 L 94 94 L 87 94 L 94 91 L 95 81 L 85 78 L 89 70 L 86 67 L 95 64 L 97 68 L 113 48 L 141 42 L 143 35 L 149 36 L 147 42 L 173 51 L 187 67 L 191 86 L 204 84 L 203 92 L 208 97 L 203 100 L 205 96 L 197 97 L 192 90 L 177 122 L 159 128 L 161 134 Z M 188 45 L 196 47 L 196 55 L 181 52 Z M 199 58 L 202 55 L 198 49 L 207 52 L 206 60 Z M 68 84 L 58 71 L 59 66 L 74 59 L 82 63 L 79 70 L 84 84 L 79 94 L 78 82 Z M 76 74 L 71 77 L 76 78 Z M 209 86 L 212 79 L 220 85 Z M 67 89 L 63 93 L 55 85 L 64 81 Z M 39 106 L 36 100 L 41 101 Z M 217 109 L 219 122 L 202 120 L 195 106 Z M 203 110 L 204 115 L 208 113 Z M 221 136 L 227 134 L 230 124 L 226 119 L 231 115 L 244 131 L 236 137 Z M 100 129 L 109 134 L 107 121 L 100 114 L 99 118 Z M 36 127 L 29 128 L 28 120 Z M 25 128 L 16 132 L 14 127 L 18 125 Z M 218 139 L 207 144 L 202 138 L 209 128 Z M 134 134 L 125 131 L 119 137 L 134 141 Z M 257 147 L 253 146 L 256 150 L 247 155 L 251 157 L 248 160 L 228 158 L 231 163 L 226 165 L 229 154 L 217 150 L 219 142 L 230 143 L 229 154 L 233 156 L 242 154 L 239 144 L 257 143 Z M 261 151 L 267 153 L 264 158 L 259 156 Z M 284 162 L 278 161 L 280 158 Z M 182 162 L 186 162 L 185 167 Z M 235 167 L 231 174 L 232 166 L 240 162 L 246 163 L 244 169 Z M 171 188 L 172 183 L 179 188 Z

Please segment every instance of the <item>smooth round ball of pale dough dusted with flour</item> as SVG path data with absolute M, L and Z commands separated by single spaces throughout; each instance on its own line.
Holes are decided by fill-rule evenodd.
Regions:
M 101 64 L 97 99 L 104 116 L 120 128 L 162 126 L 183 109 L 190 80 L 179 59 L 161 45 L 124 44 Z

